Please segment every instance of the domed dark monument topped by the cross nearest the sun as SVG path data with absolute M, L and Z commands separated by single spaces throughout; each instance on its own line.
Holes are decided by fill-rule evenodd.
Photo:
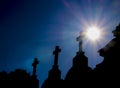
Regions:
M 73 65 L 65 77 L 66 87 L 80 88 L 83 83 L 87 83 L 91 79 L 92 69 L 88 67 L 88 58 L 82 50 L 82 39 L 82 35 L 76 39 L 79 42 L 79 51 L 73 58 Z

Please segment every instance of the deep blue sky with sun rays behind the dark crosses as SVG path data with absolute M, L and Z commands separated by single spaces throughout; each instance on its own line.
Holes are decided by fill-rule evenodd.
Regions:
M 40 61 L 37 75 L 40 85 L 52 68 L 56 45 L 59 68 L 64 79 L 78 51 L 76 37 L 87 25 L 104 31 L 102 40 L 83 45 L 89 66 L 103 58 L 98 50 L 113 38 L 120 23 L 120 0 L 0 0 L 0 71 L 22 68 L 32 73 L 35 57 Z

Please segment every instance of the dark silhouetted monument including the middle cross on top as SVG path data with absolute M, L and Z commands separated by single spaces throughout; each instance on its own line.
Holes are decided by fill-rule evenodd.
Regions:
M 61 49 L 59 46 L 56 46 L 55 51 L 53 51 L 53 54 L 55 55 L 54 65 L 49 71 L 48 78 L 43 83 L 42 88 L 62 88 L 63 80 L 61 79 L 61 71 L 58 69 L 58 54 L 60 52 Z

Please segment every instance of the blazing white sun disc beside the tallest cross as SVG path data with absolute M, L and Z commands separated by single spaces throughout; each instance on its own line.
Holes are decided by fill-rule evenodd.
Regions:
M 96 26 L 89 27 L 85 33 L 86 37 L 92 41 L 99 40 L 101 37 L 100 28 Z

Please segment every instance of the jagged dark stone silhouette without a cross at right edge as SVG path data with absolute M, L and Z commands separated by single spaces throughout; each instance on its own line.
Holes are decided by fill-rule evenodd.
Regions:
M 104 60 L 94 69 L 95 80 L 101 85 L 118 86 L 120 79 L 120 24 L 112 31 L 113 38 L 98 52 Z

